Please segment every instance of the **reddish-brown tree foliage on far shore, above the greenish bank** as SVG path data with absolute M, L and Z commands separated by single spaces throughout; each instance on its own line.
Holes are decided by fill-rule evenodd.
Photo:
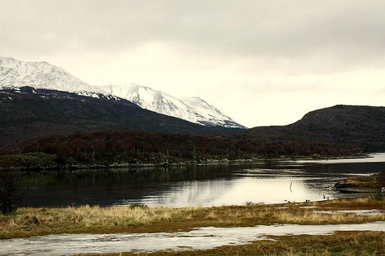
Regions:
M 22 143 L 16 148 L 2 150 L 0 154 L 45 152 L 64 157 L 81 158 L 82 155 L 161 153 L 172 157 L 193 158 L 218 155 L 243 157 L 247 154 L 263 155 L 349 155 L 351 150 L 335 144 L 321 143 L 261 143 L 253 136 L 231 134 L 187 135 L 160 134 L 140 131 L 92 132 L 72 136 L 52 136 Z

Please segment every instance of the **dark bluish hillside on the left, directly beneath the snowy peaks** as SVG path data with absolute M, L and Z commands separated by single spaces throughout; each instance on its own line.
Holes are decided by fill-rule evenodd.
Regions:
M 185 134 L 233 131 L 161 115 L 104 94 L 86 97 L 31 87 L 0 90 L 0 147 L 39 136 L 111 130 Z

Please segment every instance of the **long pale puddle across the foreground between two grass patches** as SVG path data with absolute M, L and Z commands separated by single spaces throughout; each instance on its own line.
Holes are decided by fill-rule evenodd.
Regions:
M 270 225 L 255 227 L 202 227 L 190 232 L 144 234 L 59 234 L 0 240 L 0 255 L 72 255 L 77 253 L 207 250 L 267 240 L 271 236 L 326 235 L 337 231 L 381 231 L 385 222 L 350 225 Z M 271 240 L 271 239 L 270 239 Z

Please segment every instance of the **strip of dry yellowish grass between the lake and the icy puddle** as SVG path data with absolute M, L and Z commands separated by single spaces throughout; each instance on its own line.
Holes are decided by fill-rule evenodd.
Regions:
M 277 208 L 286 206 L 288 208 Z M 0 238 L 61 233 L 175 232 L 194 227 L 250 227 L 274 223 L 337 224 L 385 220 L 385 215 L 312 213 L 316 210 L 385 209 L 385 201 L 373 198 L 339 199 L 302 204 L 190 208 L 81 206 L 68 208 L 20 208 L 14 215 L 0 215 Z

